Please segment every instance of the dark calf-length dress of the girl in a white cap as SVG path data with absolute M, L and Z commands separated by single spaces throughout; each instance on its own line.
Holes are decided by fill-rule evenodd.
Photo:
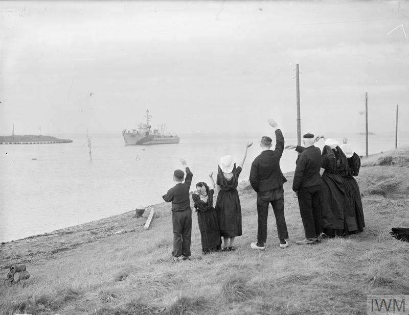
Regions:
M 241 206 L 237 185 L 241 167 L 233 167 L 233 177 L 226 179 L 219 166 L 217 172 L 217 185 L 220 191 L 216 200 L 216 213 L 219 220 L 220 236 L 236 237 L 241 235 Z

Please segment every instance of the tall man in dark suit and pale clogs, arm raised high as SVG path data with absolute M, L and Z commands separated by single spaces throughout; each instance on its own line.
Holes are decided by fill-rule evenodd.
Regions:
M 260 141 L 262 152 L 252 163 L 250 171 L 250 184 L 257 192 L 258 231 L 257 243 L 252 243 L 253 249 L 265 250 L 267 240 L 267 215 L 268 205 L 271 203 L 277 222 L 277 233 L 280 239 L 280 247 L 288 247 L 287 224 L 284 216 L 284 189 L 283 184 L 287 181 L 281 172 L 280 158 L 284 150 L 284 137 L 277 123 L 269 119 L 268 123 L 276 129 L 276 148 L 271 148 L 271 138 L 263 136 Z

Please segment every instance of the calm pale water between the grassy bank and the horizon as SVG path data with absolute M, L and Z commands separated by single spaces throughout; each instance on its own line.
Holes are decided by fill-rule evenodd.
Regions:
M 210 172 L 216 177 L 220 156 L 230 154 L 239 161 L 245 143 L 253 140 L 240 176 L 240 180 L 247 180 L 250 165 L 260 153 L 259 136 L 181 135 L 178 144 L 143 147 L 124 146 L 121 134 L 95 135 L 92 161 L 86 136 L 72 136 L 72 143 L 2 145 L 0 241 L 101 219 L 137 205 L 160 203 L 173 185 L 173 170 L 182 168 L 179 157 L 187 160 L 193 183 L 208 181 Z M 347 136 L 355 151 L 365 155 L 365 135 Z M 296 142 L 296 138 L 286 138 L 286 144 Z M 323 143 L 320 140 L 320 148 Z M 403 143 L 409 143 L 409 138 L 400 138 L 399 144 Z M 393 134 L 372 135 L 369 154 L 394 146 Z M 293 171 L 296 158 L 294 150 L 285 150 L 282 171 Z

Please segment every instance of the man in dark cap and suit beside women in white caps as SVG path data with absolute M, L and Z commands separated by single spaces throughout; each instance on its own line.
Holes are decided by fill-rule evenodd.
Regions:
M 303 136 L 304 146 L 297 146 L 301 152 L 297 158 L 296 172 L 292 190 L 296 192 L 303 221 L 305 239 L 297 241 L 298 245 L 314 244 L 319 241 L 322 232 L 321 224 L 321 150 L 314 146 L 315 138 L 311 133 Z M 288 146 L 286 148 L 294 148 Z

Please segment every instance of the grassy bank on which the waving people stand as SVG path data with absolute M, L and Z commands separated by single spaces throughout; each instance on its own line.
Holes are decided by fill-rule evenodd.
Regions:
M 2 244 L 0 277 L 20 262 L 31 277 L 0 286 L 0 313 L 365 314 L 368 294 L 409 295 L 409 243 L 389 235 L 392 227 L 409 227 L 408 161 L 407 149 L 362 160 L 365 231 L 319 245 L 295 244 L 304 231 L 292 173 L 284 186 L 287 249 L 278 247 L 272 211 L 267 250 L 250 249 L 257 210 L 247 183 L 240 184 L 243 236 L 236 252 L 203 256 L 194 213 L 192 258 L 171 263 L 169 204 L 152 206 L 149 230 L 148 209 L 139 219 L 128 212 Z

